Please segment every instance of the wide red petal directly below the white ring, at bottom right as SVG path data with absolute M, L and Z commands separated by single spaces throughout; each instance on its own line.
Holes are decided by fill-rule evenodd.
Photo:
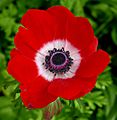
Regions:
M 94 78 L 71 78 L 71 79 L 57 79 L 54 80 L 49 88 L 49 93 L 60 96 L 64 99 L 73 100 L 81 95 L 88 93 L 96 82 L 96 77 Z

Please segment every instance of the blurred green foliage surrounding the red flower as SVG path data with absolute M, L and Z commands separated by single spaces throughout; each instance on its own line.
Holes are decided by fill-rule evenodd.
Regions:
M 87 17 L 99 38 L 99 48 L 110 54 L 111 63 L 92 92 L 75 101 L 61 99 L 62 112 L 52 120 L 117 120 L 117 0 L 0 0 L 0 120 L 43 120 L 41 109 L 27 110 L 22 105 L 19 84 L 6 69 L 22 15 L 30 8 L 53 5 Z

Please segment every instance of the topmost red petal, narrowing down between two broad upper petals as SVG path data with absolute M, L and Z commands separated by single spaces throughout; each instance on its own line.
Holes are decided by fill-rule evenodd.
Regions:
M 58 31 L 56 33 L 56 39 L 66 38 L 67 21 L 69 18 L 73 18 L 74 15 L 63 6 L 53 6 L 50 7 L 47 11 L 54 16 L 57 23 Z

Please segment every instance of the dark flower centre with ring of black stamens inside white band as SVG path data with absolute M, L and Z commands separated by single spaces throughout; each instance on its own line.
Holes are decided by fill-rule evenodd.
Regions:
M 49 55 L 45 56 L 45 68 L 50 72 L 56 74 L 62 74 L 69 71 L 70 66 L 73 64 L 73 59 L 70 57 L 69 51 L 62 49 L 56 49 L 48 51 Z

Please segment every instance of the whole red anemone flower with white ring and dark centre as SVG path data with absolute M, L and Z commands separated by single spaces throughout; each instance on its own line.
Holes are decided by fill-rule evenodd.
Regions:
M 97 51 L 97 39 L 86 18 L 67 8 L 30 9 L 15 36 L 8 72 L 21 84 L 28 108 L 42 108 L 62 97 L 74 100 L 91 91 L 109 55 Z

